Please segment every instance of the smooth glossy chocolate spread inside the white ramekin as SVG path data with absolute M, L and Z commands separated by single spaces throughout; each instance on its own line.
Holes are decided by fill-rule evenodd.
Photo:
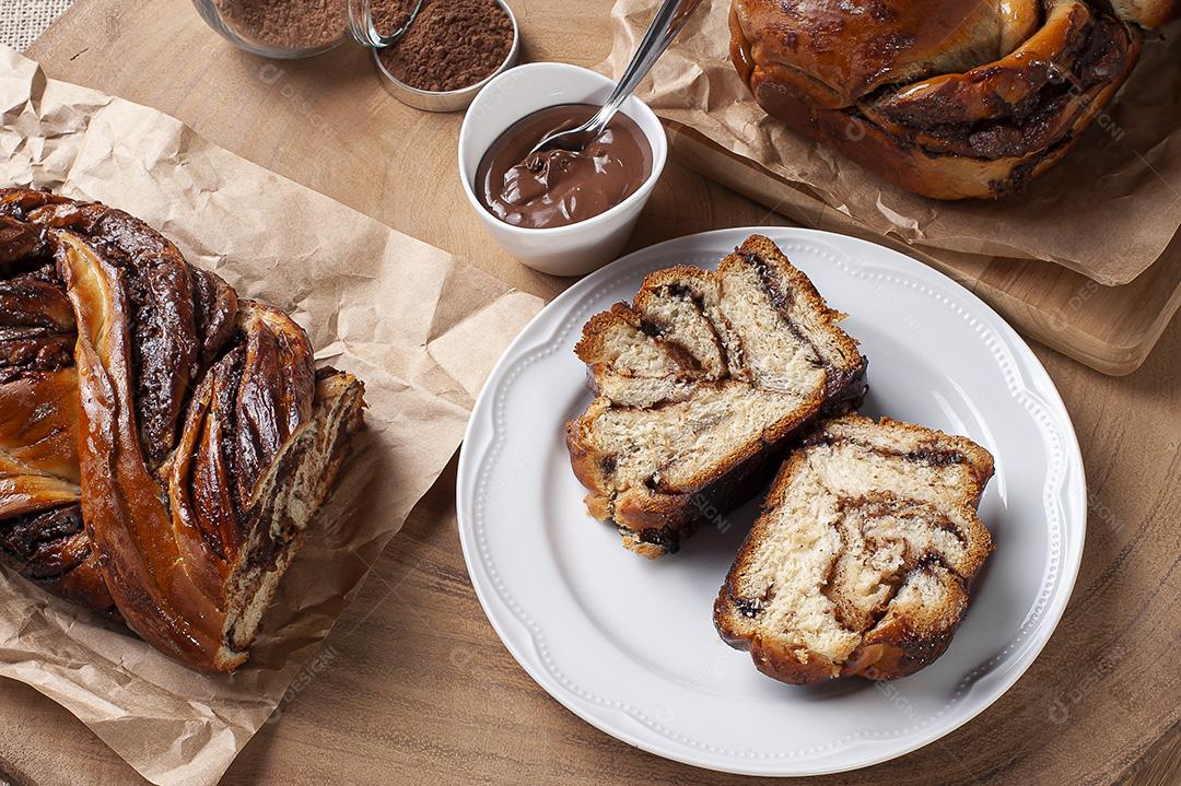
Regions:
M 549 132 L 579 126 L 598 110 L 550 106 L 502 133 L 476 170 L 476 192 L 488 211 L 515 227 L 547 229 L 598 216 L 634 194 L 652 173 L 652 148 L 622 112 L 582 150 L 529 155 Z

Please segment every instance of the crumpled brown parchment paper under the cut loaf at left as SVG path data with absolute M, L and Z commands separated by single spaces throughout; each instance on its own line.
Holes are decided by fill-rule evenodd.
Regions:
M 365 381 L 368 427 L 236 674 L 190 672 L 0 570 L 0 675 L 64 706 L 149 780 L 214 784 L 455 453 L 484 378 L 542 301 L 4 48 L 0 183 L 139 216 L 241 295 L 291 312 L 319 361 Z

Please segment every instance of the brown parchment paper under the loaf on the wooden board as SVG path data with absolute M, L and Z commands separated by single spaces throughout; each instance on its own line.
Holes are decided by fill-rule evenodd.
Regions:
M 657 5 L 615 2 L 613 47 L 600 71 L 622 74 Z M 730 0 L 703 0 L 637 96 L 876 234 L 928 253 L 1057 262 L 1115 286 L 1155 262 L 1181 225 L 1181 22 L 1149 34 L 1115 101 L 1025 194 L 939 202 L 896 189 L 766 117 L 731 65 L 729 12 Z M 814 215 L 791 217 L 810 223 Z

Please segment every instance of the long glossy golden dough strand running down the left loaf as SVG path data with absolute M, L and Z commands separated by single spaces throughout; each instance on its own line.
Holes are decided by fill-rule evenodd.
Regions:
M 76 235 L 63 231 L 58 240 L 78 323 L 83 518 L 105 559 L 104 581 L 141 637 L 177 660 L 211 668 L 223 614 L 184 569 L 159 487 L 144 464 L 120 276 Z

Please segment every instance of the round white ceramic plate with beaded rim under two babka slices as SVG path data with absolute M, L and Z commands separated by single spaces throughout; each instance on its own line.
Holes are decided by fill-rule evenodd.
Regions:
M 592 314 L 652 270 L 712 267 L 752 231 L 807 273 L 869 358 L 862 412 L 965 434 L 996 457 L 980 515 L 997 550 L 934 664 L 894 682 L 778 683 L 715 633 L 712 605 L 757 500 L 647 561 L 590 518 L 563 425 L 590 393 L 573 348 Z M 1078 571 L 1085 482 L 1070 418 L 1029 347 L 946 276 L 863 241 L 732 229 L 637 251 L 554 300 L 497 363 L 459 460 L 459 535 L 504 644 L 552 696 L 645 751 L 725 772 L 863 767 L 996 701 L 1053 631 Z

